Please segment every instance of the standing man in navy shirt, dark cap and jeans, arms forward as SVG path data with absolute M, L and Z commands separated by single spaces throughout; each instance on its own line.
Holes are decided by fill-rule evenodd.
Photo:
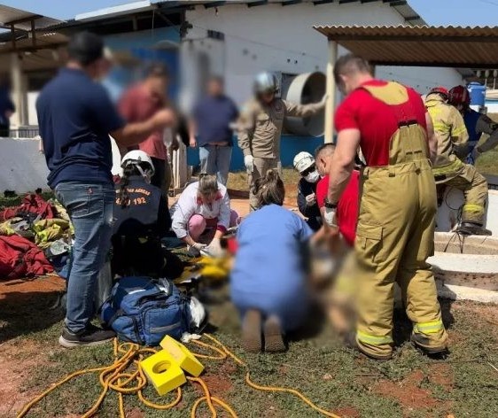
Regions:
M 169 111 L 142 123 L 125 124 L 96 79 L 105 71 L 104 43 L 89 32 L 68 43 L 65 68 L 36 102 L 40 135 L 50 174 L 48 184 L 74 226 L 73 264 L 67 283 L 66 321 L 59 344 L 95 345 L 113 331 L 91 325 L 97 275 L 113 231 L 114 187 L 109 135 L 124 147 L 173 123 Z

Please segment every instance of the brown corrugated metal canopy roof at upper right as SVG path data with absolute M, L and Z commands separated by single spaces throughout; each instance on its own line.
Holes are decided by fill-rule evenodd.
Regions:
M 315 27 L 377 65 L 498 66 L 498 27 Z

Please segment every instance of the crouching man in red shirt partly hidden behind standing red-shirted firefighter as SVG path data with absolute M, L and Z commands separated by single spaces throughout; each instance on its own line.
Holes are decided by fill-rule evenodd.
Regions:
M 332 157 L 336 146 L 333 143 L 324 143 L 315 151 L 315 161 L 318 173 L 323 178 L 316 184 L 316 203 L 320 212 L 324 212 L 325 198 L 329 192 L 329 173 L 331 171 Z M 338 201 L 338 230 L 349 246 L 354 245 L 356 236 L 356 221 L 358 219 L 358 204 L 360 195 L 360 172 L 353 170 L 346 190 Z

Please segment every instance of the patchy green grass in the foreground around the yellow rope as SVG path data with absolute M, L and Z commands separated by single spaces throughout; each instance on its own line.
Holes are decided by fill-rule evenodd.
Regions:
M 328 326 L 315 337 L 292 342 L 288 352 L 245 354 L 239 345 L 235 308 L 225 302 L 210 306 L 210 311 L 214 326 L 219 327 L 215 336 L 247 361 L 254 382 L 299 389 L 318 406 L 339 415 L 413 418 L 454 414 L 458 418 L 491 418 L 498 416 L 498 373 L 488 363 L 498 366 L 498 333 L 496 329 L 490 330 L 492 326 L 485 314 L 476 314 L 480 308 L 479 304 L 443 302 L 451 338 L 451 355 L 442 363 L 450 376 L 448 384 L 441 384 L 434 378 L 438 375 L 435 368 L 440 368 L 441 364 L 422 356 L 406 341 L 396 349 L 392 361 L 377 363 L 335 343 Z M 27 321 L 35 321 L 36 307 L 32 309 L 33 318 L 27 315 Z M 398 336 L 409 329 L 404 314 L 396 314 L 396 323 Z M 59 329 L 60 323 L 56 321 L 46 329 L 16 337 L 9 343 L 15 343 L 17 347 L 11 350 L 12 361 L 23 359 L 22 347 L 27 340 L 43 344 L 47 353 L 48 363 L 31 370 L 22 391 L 40 392 L 74 370 L 112 362 L 111 344 L 71 351 L 59 349 L 56 344 Z M 291 395 L 249 388 L 245 385 L 244 369 L 231 360 L 202 361 L 206 366 L 206 381 L 214 395 L 228 401 L 240 417 L 321 416 Z M 417 373 L 422 375 L 413 383 L 412 376 Z M 393 388 L 391 392 L 380 390 L 385 385 L 391 385 L 388 386 Z M 80 415 L 97 399 L 100 389 L 97 374 L 78 377 L 35 406 L 28 416 Z M 424 391 L 428 393 L 427 399 L 432 400 L 428 405 L 422 396 Z M 172 399 L 172 395 L 156 396 L 150 386 L 144 394 L 159 403 Z M 185 417 L 189 416 L 190 408 L 199 396 L 198 388 L 187 384 L 182 403 L 167 413 L 141 405 L 135 395 L 125 397 L 125 406 L 128 412 L 143 411 L 145 417 Z M 397 396 L 404 400 L 401 402 Z M 413 399 L 415 406 L 411 405 Z M 202 411 L 198 416 L 210 416 L 204 406 Z M 110 393 L 98 416 L 116 417 L 117 414 L 117 397 Z

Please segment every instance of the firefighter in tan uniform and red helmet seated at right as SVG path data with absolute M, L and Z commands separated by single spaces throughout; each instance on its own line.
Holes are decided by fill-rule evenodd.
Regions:
M 438 141 L 438 155 L 432 173 L 437 184 L 445 184 L 462 190 L 465 203 L 462 222 L 458 228 L 463 234 L 491 235 L 483 227 L 487 197 L 486 178 L 474 166 L 465 164 L 469 134 L 458 110 L 447 104 L 448 91 L 435 88 L 425 98 L 425 107 L 431 115 L 434 133 Z

